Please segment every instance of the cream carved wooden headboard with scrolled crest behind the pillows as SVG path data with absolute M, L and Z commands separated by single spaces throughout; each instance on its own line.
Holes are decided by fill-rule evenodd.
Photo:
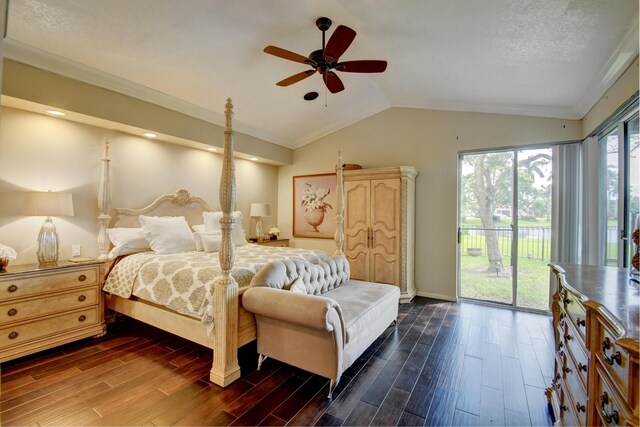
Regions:
M 189 225 L 202 224 L 202 212 L 213 211 L 200 197 L 192 196 L 187 190 L 158 197 L 142 209 L 116 208 L 115 227 L 140 227 L 138 215 L 184 216 Z

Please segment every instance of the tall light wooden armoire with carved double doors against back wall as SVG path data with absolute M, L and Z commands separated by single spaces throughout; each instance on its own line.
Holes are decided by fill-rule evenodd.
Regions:
M 344 171 L 344 252 L 351 277 L 398 286 L 402 303 L 416 295 L 417 175 L 410 166 Z

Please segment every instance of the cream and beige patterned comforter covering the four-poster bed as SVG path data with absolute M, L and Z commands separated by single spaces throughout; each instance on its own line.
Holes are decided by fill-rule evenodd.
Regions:
M 268 262 L 304 259 L 314 264 L 328 255 L 322 251 L 244 245 L 236 248 L 231 275 L 238 286 L 248 286 L 253 276 Z M 178 313 L 213 322 L 213 284 L 221 274 L 217 252 L 184 252 L 157 255 L 142 252 L 124 257 L 107 276 L 103 287 L 124 298 L 134 295 Z

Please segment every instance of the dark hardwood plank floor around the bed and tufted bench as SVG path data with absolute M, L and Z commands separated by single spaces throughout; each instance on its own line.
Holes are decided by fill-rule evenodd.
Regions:
M 548 316 L 416 298 L 397 327 L 328 380 L 241 351 L 243 377 L 208 382 L 211 352 L 132 320 L 1 366 L 2 425 L 551 425 Z

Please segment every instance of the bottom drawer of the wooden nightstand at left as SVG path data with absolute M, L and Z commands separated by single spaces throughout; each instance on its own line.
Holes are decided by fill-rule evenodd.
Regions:
M 0 328 L 0 347 L 19 345 L 58 332 L 95 325 L 102 321 L 98 318 L 98 311 L 99 307 L 91 307 L 59 316 L 45 317 L 29 323 L 2 327 Z

